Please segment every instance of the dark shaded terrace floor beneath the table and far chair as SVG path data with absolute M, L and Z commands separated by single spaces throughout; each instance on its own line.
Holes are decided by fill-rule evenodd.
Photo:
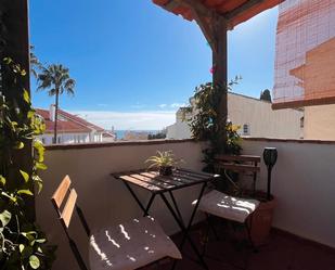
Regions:
M 191 236 L 199 250 L 203 250 L 205 226 L 197 226 Z M 210 237 L 206 248 L 205 261 L 209 270 L 335 270 L 335 250 L 309 241 L 300 240 L 278 230 L 271 232 L 268 243 L 258 252 L 242 244 L 243 241 L 232 240 L 231 235 L 220 230 L 220 241 Z M 181 235 L 172 237 L 178 244 Z M 177 270 L 204 270 L 194 261 L 192 248 L 186 244 L 183 248 L 183 259 L 178 261 Z M 170 270 L 170 260 L 160 261 L 145 270 Z

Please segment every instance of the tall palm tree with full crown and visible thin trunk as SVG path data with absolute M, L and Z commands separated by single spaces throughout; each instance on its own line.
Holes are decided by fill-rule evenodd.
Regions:
M 38 75 L 37 90 L 48 90 L 50 97 L 55 95 L 54 134 L 53 143 L 57 141 L 57 118 L 60 95 L 66 92 L 75 94 L 76 81 L 69 77 L 69 69 L 63 65 L 49 65 L 42 67 Z

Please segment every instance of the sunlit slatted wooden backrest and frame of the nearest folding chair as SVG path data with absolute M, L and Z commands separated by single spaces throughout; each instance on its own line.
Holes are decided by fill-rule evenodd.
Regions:
M 80 267 L 81 270 L 88 270 L 89 268 L 86 266 L 82 256 L 80 255 L 80 252 L 78 249 L 78 246 L 76 245 L 76 242 L 70 237 L 68 228 L 74 215 L 74 210 L 76 209 L 80 222 L 87 233 L 87 235 L 90 235 L 90 229 L 88 227 L 88 223 L 85 219 L 85 216 L 77 205 L 77 192 L 75 189 L 70 189 L 70 179 L 68 176 L 66 176 L 62 182 L 60 183 L 59 188 L 56 191 L 53 193 L 51 197 L 51 202 L 57 213 L 59 219 L 61 221 L 61 224 L 64 229 L 64 232 L 67 236 L 67 240 L 69 242 L 69 246 L 76 257 L 76 260 Z M 66 198 L 67 197 L 67 198 Z M 65 205 L 64 207 L 62 207 Z

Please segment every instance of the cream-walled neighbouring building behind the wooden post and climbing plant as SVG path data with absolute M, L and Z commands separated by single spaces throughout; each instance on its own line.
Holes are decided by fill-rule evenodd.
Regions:
M 302 139 L 304 111 L 293 108 L 273 111 L 271 105 L 267 101 L 229 92 L 228 119 L 241 126 L 239 133 L 242 137 Z M 190 118 L 192 114 L 185 118 Z M 167 139 L 191 137 L 190 127 L 183 121 L 183 108 L 180 108 L 176 114 L 176 124 L 167 127 Z

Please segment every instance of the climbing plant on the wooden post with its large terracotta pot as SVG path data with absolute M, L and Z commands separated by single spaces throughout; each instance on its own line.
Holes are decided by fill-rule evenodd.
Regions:
M 227 85 L 227 89 L 224 90 L 231 90 L 240 79 L 240 77 L 236 77 Z M 217 154 L 240 155 L 242 152 L 242 139 L 237 132 L 240 127 L 233 125 L 230 120 L 218 117 L 219 114 L 217 112 L 220 110 L 221 95 L 222 88 L 211 82 L 197 87 L 192 102 L 184 108 L 184 120 L 188 121 L 191 128 L 193 139 L 209 142 L 209 147 L 203 151 L 205 156 L 204 163 L 206 164 L 204 170 L 207 172 L 219 172 L 226 180 L 222 181 L 222 179 L 219 179 L 216 181 L 214 183 L 215 188 L 233 196 L 247 196 L 260 202 L 260 205 L 253 215 L 253 219 L 249 220 L 249 222 L 252 222 L 252 239 L 254 244 L 260 245 L 268 239 L 275 207 L 275 198 L 270 193 L 271 172 L 269 173 L 270 178 L 268 177 L 268 193 L 266 193 L 261 191 L 250 192 L 241 188 L 237 172 L 231 170 L 216 170 L 215 157 Z M 191 115 L 191 117 L 186 117 L 188 115 Z M 226 138 L 224 144 L 220 141 L 222 137 Z

